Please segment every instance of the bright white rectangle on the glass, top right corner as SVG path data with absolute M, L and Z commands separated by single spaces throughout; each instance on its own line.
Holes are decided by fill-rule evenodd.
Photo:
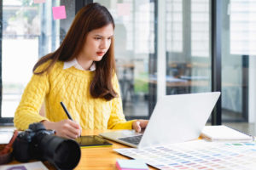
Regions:
M 256 2 L 231 0 L 225 14 L 230 16 L 230 54 L 256 54 Z M 227 17 L 227 15 L 226 15 Z

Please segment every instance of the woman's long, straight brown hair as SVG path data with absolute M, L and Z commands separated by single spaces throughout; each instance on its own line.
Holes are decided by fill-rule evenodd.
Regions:
M 90 3 L 81 8 L 78 14 L 76 14 L 66 37 L 61 42 L 61 46 L 55 52 L 39 59 L 36 65 L 34 65 L 33 73 L 40 75 L 45 71 L 49 72 L 56 61 L 74 59 L 84 47 L 88 33 L 109 24 L 112 24 L 114 28 L 113 17 L 108 12 L 108 9 L 99 3 Z M 49 59 L 52 59 L 49 65 L 43 71 L 36 72 L 38 66 L 44 64 Z M 103 56 L 102 60 L 95 63 L 96 72 L 90 84 L 90 95 L 94 98 L 104 98 L 107 100 L 117 97 L 117 93 L 113 90 L 112 85 L 112 77 L 115 72 L 113 37 L 108 52 Z

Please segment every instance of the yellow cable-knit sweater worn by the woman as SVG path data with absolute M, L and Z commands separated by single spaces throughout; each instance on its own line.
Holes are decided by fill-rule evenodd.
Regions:
M 90 82 L 95 72 L 81 71 L 74 67 L 63 70 L 63 64 L 58 61 L 49 73 L 32 76 L 15 111 L 15 127 L 24 130 L 32 122 L 59 122 L 67 119 L 60 104 L 62 101 L 73 120 L 79 122 L 83 129 L 131 129 L 133 121 L 125 121 L 120 95 L 110 101 L 92 98 Z M 46 65 L 49 65 L 49 61 L 40 65 L 37 72 L 42 71 Z M 114 90 L 119 94 L 116 75 L 112 82 Z M 39 115 L 43 103 L 46 117 Z

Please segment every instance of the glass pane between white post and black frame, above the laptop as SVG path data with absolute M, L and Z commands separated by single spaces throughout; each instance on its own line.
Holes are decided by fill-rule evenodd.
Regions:
M 166 0 L 166 94 L 210 92 L 208 0 Z

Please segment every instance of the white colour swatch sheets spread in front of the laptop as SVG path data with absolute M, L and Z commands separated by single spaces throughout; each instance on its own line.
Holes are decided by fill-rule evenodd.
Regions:
M 143 149 L 115 149 L 159 169 L 255 169 L 256 144 L 195 140 Z

